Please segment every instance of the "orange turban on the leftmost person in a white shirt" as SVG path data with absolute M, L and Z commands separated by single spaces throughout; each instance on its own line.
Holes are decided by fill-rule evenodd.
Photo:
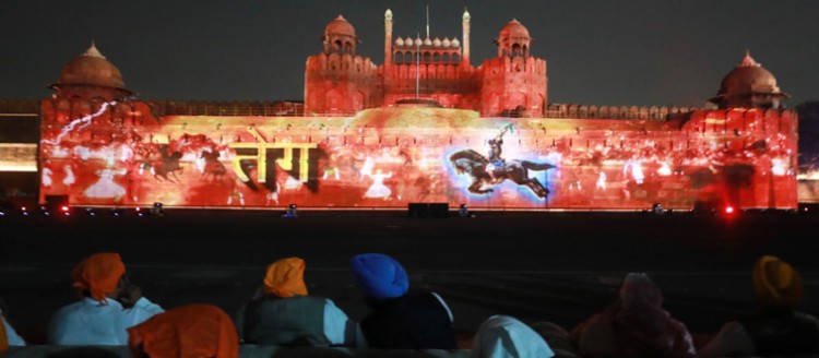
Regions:
M 126 265 L 119 253 L 95 253 L 80 262 L 71 276 L 74 287 L 91 293 L 91 297 L 102 301 L 117 290 L 119 278 L 126 273 Z

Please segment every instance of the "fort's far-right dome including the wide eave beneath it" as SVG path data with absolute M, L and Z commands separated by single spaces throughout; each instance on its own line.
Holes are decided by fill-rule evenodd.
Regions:
M 710 100 L 720 108 L 779 108 L 780 100 L 787 97 L 776 85 L 776 77 L 746 51 L 743 61 L 722 80 L 720 91 Z

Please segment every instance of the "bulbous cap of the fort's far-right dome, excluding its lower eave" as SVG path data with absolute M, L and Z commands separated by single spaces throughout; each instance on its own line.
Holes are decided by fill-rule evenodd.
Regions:
M 755 61 L 750 53 L 746 53 L 743 61 L 722 80 L 717 96 L 746 93 L 780 93 L 776 77 Z

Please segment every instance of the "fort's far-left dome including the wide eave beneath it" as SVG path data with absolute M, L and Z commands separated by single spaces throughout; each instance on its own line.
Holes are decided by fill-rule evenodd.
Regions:
M 131 94 L 126 90 L 122 73 L 105 59 L 93 41 L 85 52 L 62 67 L 60 77 L 51 88 L 66 96 L 103 97 L 108 100 Z

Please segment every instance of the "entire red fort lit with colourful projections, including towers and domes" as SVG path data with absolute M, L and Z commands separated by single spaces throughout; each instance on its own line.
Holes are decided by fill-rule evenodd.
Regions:
M 40 104 L 40 200 L 78 205 L 406 208 L 797 206 L 797 117 L 749 53 L 709 108 L 548 104 L 546 61 L 510 21 L 473 67 L 458 38 L 404 37 L 384 63 L 330 21 L 304 103 L 143 102 L 92 45 Z M 715 82 L 716 83 L 716 82 Z M 703 99 L 707 95 L 703 95 Z

